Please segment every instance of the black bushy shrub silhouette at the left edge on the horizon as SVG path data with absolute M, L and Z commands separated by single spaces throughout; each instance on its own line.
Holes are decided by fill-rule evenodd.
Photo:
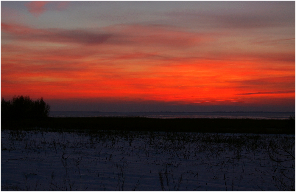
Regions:
M 35 101 L 29 96 L 14 96 L 12 100 L 1 100 L 1 118 L 22 119 L 22 118 L 45 118 L 48 117 L 50 106 L 41 97 Z

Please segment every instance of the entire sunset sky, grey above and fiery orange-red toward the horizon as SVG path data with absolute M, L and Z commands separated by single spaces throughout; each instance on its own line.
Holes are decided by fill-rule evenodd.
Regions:
M 52 111 L 294 111 L 295 1 L 1 1 L 1 97 Z

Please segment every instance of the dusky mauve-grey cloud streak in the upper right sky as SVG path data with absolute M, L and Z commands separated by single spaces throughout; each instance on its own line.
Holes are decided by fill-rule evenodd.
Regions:
M 294 4 L 295 6 L 295 4 Z M 295 10 L 294 10 L 295 15 Z M 202 11 L 170 12 L 166 16 L 176 20 L 186 20 L 191 24 L 214 28 L 254 29 L 267 27 L 283 27 L 295 25 L 295 17 L 291 13 L 275 11 L 273 13 L 204 13 Z

